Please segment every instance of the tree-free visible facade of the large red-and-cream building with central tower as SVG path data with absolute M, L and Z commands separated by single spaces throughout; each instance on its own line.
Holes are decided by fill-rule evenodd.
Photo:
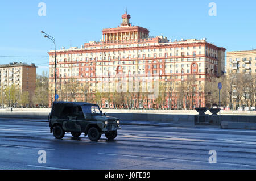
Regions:
M 81 47 L 71 47 L 56 50 L 56 78 L 57 92 L 61 92 L 60 84 L 65 85 L 69 79 L 79 81 L 79 85 L 88 85 L 89 92 L 97 93 L 102 90 L 102 82 L 113 83 L 115 87 L 119 81 L 134 80 L 138 87 L 152 87 L 148 77 L 159 79 L 159 82 L 171 86 L 171 96 L 167 96 L 166 108 L 184 107 L 184 101 L 179 100 L 181 82 L 194 77 L 193 107 L 205 106 L 205 81 L 213 77 L 220 77 L 225 71 L 225 48 L 217 47 L 203 39 L 171 40 L 164 36 L 152 37 L 150 31 L 139 26 L 132 26 L 130 15 L 122 15 L 122 23 L 117 28 L 102 30 L 100 41 L 89 41 Z M 54 51 L 49 54 L 49 106 L 54 99 Z M 146 81 L 145 81 L 146 80 Z M 124 85 L 125 85 L 124 83 Z M 103 86 L 109 89 L 108 86 Z M 135 90 L 136 87 L 133 87 Z M 166 92 L 170 90 L 165 87 Z M 110 92 L 114 92 L 114 90 Z M 106 90 L 108 92 L 108 90 Z M 130 91 L 131 92 L 131 91 Z M 169 92 L 170 93 L 170 92 Z M 65 98 L 60 100 L 65 100 Z M 79 95 L 77 95 L 79 96 Z M 172 103 L 170 103 L 170 97 Z M 67 97 L 66 97 L 67 98 Z M 143 98 L 138 98 L 143 99 Z M 154 101 L 140 102 L 141 107 L 156 108 Z M 183 102 L 183 103 L 181 103 Z M 150 106 L 146 106 L 150 104 Z M 182 105 L 181 105 L 182 104 Z M 113 103 L 104 99 L 102 107 L 113 107 Z

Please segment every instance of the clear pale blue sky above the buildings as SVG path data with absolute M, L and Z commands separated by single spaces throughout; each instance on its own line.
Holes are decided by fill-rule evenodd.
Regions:
M 38 15 L 40 2 L 46 5 L 46 16 Z M 216 16 L 209 15 L 211 2 Z M 47 52 L 53 43 L 41 30 L 55 38 L 57 49 L 81 47 L 100 41 L 103 28 L 117 27 L 125 7 L 131 23 L 149 29 L 150 36 L 206 37 L 227 51 L 256 49 L 255 0 L 17 0 L 0 2 L 0 64 L 34 62 L 38 74 L 48 71 Z

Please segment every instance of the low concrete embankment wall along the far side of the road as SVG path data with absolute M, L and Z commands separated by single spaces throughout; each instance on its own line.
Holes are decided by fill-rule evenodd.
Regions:
M 21 108 L 20 108 L 21 109 Z M 14 108 L 13 111 L 0 111 L 0 117 L 13 117 L 13 118 L 24 118 L 24 119 L 48 119 L 48 115 L 51 109 L 29 109 L 23 108 L 18 110 Z M 120 111 L 120 112 L 118 112 Z M 196 112 L 192 113 L 193 110 L 189 110 L 189 113 L 168 113 L 168 111 L 177 110 L 103 110 L 107 116 L 117 117 L 121 121 L 144 121 L 144 122 L 158 122 L 158 123 L 174 123 L 182 124 L 184 126 L 193 127 L 195 126 L 195 117 L 198 115 Z M 158 111 L 158 112 L 157 112 Z M 185 110 L 179 110 L 185 111 Z M 208 116 L 208 121 L 215 125 L 220 125 L 218 115 Z M 221 115 L 222 122 L 231 123 L 255 123 L 256 115 Z M 229 123 L 230 124 L 230 123 Z M 236 124 L 234 124 L 236 125 Z M 243 129 L 243 124 L 239 129 Z

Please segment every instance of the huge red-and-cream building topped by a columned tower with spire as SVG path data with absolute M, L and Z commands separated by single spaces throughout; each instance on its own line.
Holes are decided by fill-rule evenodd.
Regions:
M 60 100 L 86 100 L 103 108 L 184 108 L 181 91 L 193 82 L 187 97 L 193 102 L 186 104 L 204 107 L 204 83 L 224 73 L 225 50 L 205 38 L 152 37 L 147 28 L 133 26 L 125 12 L 118 27 L 102 30 L 100 41 L 56 51 L 57 92 Z M 48 54 L 51 105 L 54 51 Z

